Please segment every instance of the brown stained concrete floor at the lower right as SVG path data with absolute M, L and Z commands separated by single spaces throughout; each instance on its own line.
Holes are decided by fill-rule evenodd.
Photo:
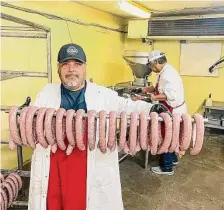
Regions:
M 224 133 L 217 133 L 206 133 L 201 153 L 181 158 L 173 176 L 146 171 L 144 154 L 121 162 L 125 210 L 224 210 Z

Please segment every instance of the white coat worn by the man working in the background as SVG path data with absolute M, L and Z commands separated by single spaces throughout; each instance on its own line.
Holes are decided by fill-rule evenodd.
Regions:
M 158 81 L 159 80 L 159 81 Z M 161 72 L 157 75 L 157 83 L 159 93 L 167 96 L 167 104 L 171 107 L 181 105 L 184 99 L 184 85 L 178 72 L 170 64 L 166 64 Z M 187 106 L 184 103 L 182 106 L 173 109 L 173 113 L 187 113 Z

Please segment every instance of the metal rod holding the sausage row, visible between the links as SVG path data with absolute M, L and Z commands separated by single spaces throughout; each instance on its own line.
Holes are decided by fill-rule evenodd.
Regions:
M 8 106 L 1 106 L 1 111 L 4 111 L 5 113 L 9 113 L 9 107 L 8 107 Z M 21 112 L 21 110 L 18 110 L 18 111 L 17 111 L 17 114 L 19 115 L 20 112 Z M 35 113 L 35 115 L 37 115 L 37 114 L 38 114 L 38 111 Z M 75 117 L 75 115 L 76 115 L 76 114 L 74 114 L 74 117 Z M 54 113 L 53 116 L 56 116 L 56 112 Z M 65 114 L 64 114 L 64 117 L 66 117 L 66 116 L 67 116 L 67 114 L 65 113 Z M 87 114 L 84 114 L 83 117 L 84 117 L 84 118 L 87 118 L 88 115 L 87 115 Z M 96 114 L 96 118 L 99 118 L 99 114 Z M 107 119 L 110 118 L 109 114 L 106 114 L 106 118 L 107 118 Z M 117 119 L 121 119 L 121 117 L 120 117 L 119 115 L 117 115 L 116 118 L 117 118 Z M 127 115 L 127 119 L 130 120 L 130 119 L 131 119 L 131 116 L 130 116 L 130 115 Z M 140 119 L 140 118 L 137 117 L 137 120 L 139 120 L 139 119 Z M 146 117 L 146 119 L 147 119 L 147 120 L 151 120 L 151 117 L 148 116 L 148 117 Z M 158 117 L 158 120 L 161 121 L 161 122 L 163 121 L 163 119 L 162 119 L 161 117 Z M 172 120 L 172 117 L 171 117 L 171 120 Z M 191 121 L 194 122 L 194 121 L 195 121 L 194 118 L 191 118 Z M 208 122 L 208 119 L 203 119 L 203 121 L 206 123 L 206 122 Z M 182 122 L 182 119 L 181 119 L 181 122 Z

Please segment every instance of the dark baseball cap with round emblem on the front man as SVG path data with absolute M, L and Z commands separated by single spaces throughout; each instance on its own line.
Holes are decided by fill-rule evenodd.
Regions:
M 73 43 L 63 45 L 58 52 L 58 62 L 63 63 L 72 59 L 86 63 L 86 54 L 84 50 L 81 46 Z

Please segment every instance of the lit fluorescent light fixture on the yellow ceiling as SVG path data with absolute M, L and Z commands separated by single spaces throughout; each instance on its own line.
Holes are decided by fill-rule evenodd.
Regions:
M 147 11 L 144 7 L 140 6 L 139 4 L 136 4 L 132 1 L 127 0 L 120 0 L 118 2 L 118 5 L 121 10 L 124 12 L 130 13 L 132 15 L 135 15 L 140 18 L 150 18 L 151 13 L 150 11 Z

